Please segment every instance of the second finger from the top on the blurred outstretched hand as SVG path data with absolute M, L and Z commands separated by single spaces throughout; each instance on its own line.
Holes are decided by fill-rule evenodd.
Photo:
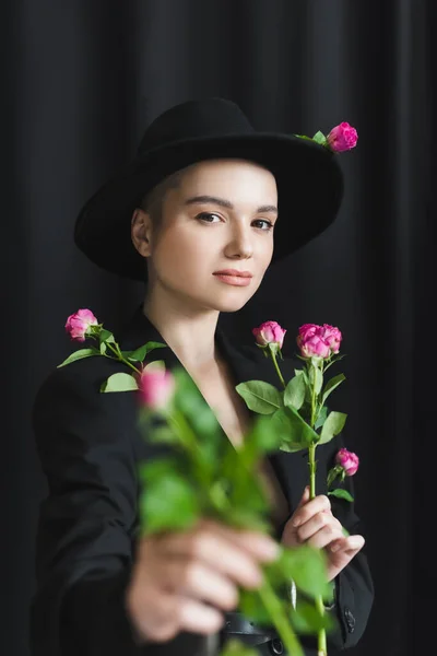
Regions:
M 169 593 L 208 601 L 222 610 L 233 610 L 238 604 L 235 584 L 201 561 L 187 565 L 182 560 L 165 562 L 158 572 L 161 585 Z

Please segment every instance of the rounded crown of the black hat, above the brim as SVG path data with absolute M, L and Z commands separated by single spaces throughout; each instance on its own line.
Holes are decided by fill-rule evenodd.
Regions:
M 232 101 L 188 101 L 170 107 L 152 121 L 144 132 L 138 154 L 185 139 L 211 139 L 253 132 L 245 114 Z

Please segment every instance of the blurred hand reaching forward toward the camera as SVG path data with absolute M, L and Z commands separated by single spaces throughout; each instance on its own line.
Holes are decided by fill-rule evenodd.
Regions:
M 269 536 L 208 519 L 188 531 L 142 538 L 126 594 L 140 640 L 217 632 L 221 611 L 238 604 L 238 586 L 259 587 L 261 563 L 277 554 L 279 544 Z

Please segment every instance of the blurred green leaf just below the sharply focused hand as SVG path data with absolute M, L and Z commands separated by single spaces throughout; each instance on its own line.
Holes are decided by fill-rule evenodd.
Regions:
M 296 588 L 310 597 L 331 594 L 327 579 L 327 557 L 320 549 L 303 544 L 295 549 L 284 549 L 280 557 L 281 567 L 293 578 Z

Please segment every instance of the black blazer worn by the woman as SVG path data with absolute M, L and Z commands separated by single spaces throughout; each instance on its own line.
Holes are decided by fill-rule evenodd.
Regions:
M 116 339 L 118 336 L 116 336 Z M 119 339 L 123 349 L 164 341 L 140 306 Z M 236 348 L 217 327 L 216 340 L 235 384 L 249 379 L 277 386 L 270 361 L 256 347 Z M 154 351 L 167 367 L 179 365 L 170 349 Z M 281 363 L 291 377 L 286 361 Z M 138 646 L 123 606 L 135 553 L 139 459 L 153 457 L 137 427 L 134 394 L 101 394 L 99 385 L 125 365 L 90 358 L 55 370 L 34 402 L 33 429 L 49 492 L 40 504 L 36 537 L 37 588 L 31 604 L 33 656 L 193 656 L 203 637 L 181 633 L 165 644 Z M 317 448 L 317 491 L 326 491 L 327 471 L 340 437 Z M 307 483 L 306 454 L 277 452 L 270 461 L 292 514 Z M 347 480 L 351 485 L 351 479 Z M 351 489 L 351 488 L 350 488 Z M 332 502 L 350 532 L 359 532 L 354 505 Z M 330 646 L 359 640 L 373 604 L 373 582 L 362 551 L 336 581 L 340 630 Z M 314 645 L 312 639 L 303 641 Z M 310 655 L 309 646 L 307 654 Z

